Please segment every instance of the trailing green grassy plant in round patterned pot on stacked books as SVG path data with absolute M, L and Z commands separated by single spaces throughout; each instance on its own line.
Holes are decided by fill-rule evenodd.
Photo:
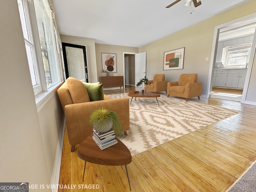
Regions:
M 111 128 L 115 134 L 122 132 L 118 114 L 105 108 L 94 110 L 89 116 L 89 124 L 100 133 L 108 132 Z

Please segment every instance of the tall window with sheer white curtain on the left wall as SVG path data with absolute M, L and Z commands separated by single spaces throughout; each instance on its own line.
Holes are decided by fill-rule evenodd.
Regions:
M 39 94 L 60 82 L 60 43 L 48 0 L 18 0 L 18 7 L 31 80 Z

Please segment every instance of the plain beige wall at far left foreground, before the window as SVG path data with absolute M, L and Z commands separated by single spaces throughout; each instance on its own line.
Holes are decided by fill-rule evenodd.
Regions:
M 0 7 L 0 181 L 50 184 L 18 4 Z

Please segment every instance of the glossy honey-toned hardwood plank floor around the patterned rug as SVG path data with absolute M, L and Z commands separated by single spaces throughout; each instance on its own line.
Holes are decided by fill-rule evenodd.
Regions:
M 106 90 L 118 94 L 129 87 Z M 132 156 L 127 165 L 134 192 L 225 192 L 256 160 L 256 106 L 216 98 L 190 98 L 189 101 L 221 106 L 241 112 L 210 126 Z M 128 132 L 129 134 L 129 132 Z M 70 152 L 65 130 L 60 188 L 58 192 L 128 192 L 124 166 L 86 163 L 77 156 L 77 146 Z M 63 189 L 62 185 L 76 185 Z M 98 189 L 88 189 L 97 184 Z M 87 187 L 86 189 L 81 189 Z M 62 189 L 61 189 L 62 188 Z

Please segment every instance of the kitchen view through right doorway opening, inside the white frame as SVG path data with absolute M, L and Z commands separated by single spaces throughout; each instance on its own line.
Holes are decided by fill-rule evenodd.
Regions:
M 254 22 L 252 20 L 252 22 Z M 244 25 L 243 22 L 237 25 Z M 241 102 L 256 23 L 220 30 L 212 98 Z

